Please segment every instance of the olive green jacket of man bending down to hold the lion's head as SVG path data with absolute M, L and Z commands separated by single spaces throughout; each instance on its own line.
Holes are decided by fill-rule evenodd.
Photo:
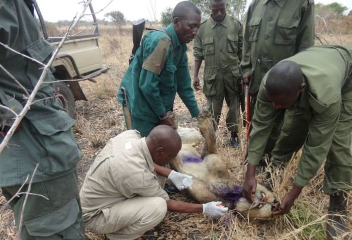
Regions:
M 330 149 L 341 111 L 341 90 L 352 80 L 352 47 L 316 46 L 285 60 L 300 65 L 307 85 L 294 105 L 311 119 L 295 179 L 303 187 L 316 175 Z M 276 110 L 264 88 L 267 76 L 259 88 L 248 142 L 248 162 L 254 165 L 259 163 L 275 122 Z M 345 104 L 350 111 L 351 103 Z

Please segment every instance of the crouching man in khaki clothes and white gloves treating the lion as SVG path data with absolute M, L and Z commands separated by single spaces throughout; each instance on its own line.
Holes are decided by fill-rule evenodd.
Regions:
M 221 216 L 228 209 L 219 202 L 193 204 L 169 199 L 162 185 L 167 177 L 185 189 L 191 176 L 165 167 L 181 149 L 181 138 L 167 125 L 153 128 L 147 137 L 128 130 L 112 138 L 97 155 L 80 190 L 86 229 L 109 239 L 135 239 L 156 226 L 166 214 L 203 212 Z

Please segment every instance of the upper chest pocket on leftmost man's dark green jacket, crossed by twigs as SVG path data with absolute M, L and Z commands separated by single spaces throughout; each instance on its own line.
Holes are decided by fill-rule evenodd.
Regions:
M 38 39 L 37 41 L 32 42 L 26 48 L 28 56 L 43 62 L 44 64 L 48 62 L 51 57 L 54 47 L 44 39 Z M 51 68 L 52 69 L 52 68 Z M 33 87 L 36 86 L 40 75 L 43 72 L 43 65 L 35 61 L 28 61 L 27 76 L 30 78 Z M 45 81 L 54 81 L 54 77 L 51 74 L 51 71 L 48 71 Z M 47 85 L 42 85 L 41 88 L 46 87 Z

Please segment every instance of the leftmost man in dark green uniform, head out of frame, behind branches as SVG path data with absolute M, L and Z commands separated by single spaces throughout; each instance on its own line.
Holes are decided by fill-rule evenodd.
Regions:
M 0 42 L 40 62 L 47 62 L 53 47 L 40 37 L 37 22 L 23 0 L 0 1 Z M 22 110 L 42 73 L 42 65 L 0 46 L 0 141 Z M 54 81 L 51 73 L 45 81 Z M 0 153 L 0 187 L 7 200 L 14 197 L 39 167 L 26 202 L 20 239 L 83 239 L 76 164 L 81 157 L 71 127 L 74 120 L 55 98 L 53 84 L 43 84 L 35 103 L 21 126 Z M 2 106 L 2 107 L 1 107 Z M 22 188 L 25 192 L 27 185 Z M 25 195 L 15 197 L 10 206 L 19 225 Z

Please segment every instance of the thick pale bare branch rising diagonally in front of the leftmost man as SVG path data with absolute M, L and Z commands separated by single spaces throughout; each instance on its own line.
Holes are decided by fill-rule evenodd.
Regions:
M 44 69 L 42 74 L 39 77 L 39 80 L 36 84 L 36 86 L 34 87 L 31 95 L 28 98 L 28 101 L 26 103 L 26 105 L 23 107 L 23 110 L 21 111 L 21 113 L 18 115 L 18 117 L 16 118 L 14 124 L 11 126 L 10 130 L 8 131 L 8 133 L 6 134 L 5 138 L 3 139 L 2 143 L 0 144 L 0 154 L 3 152 L 3 150 L 5 149 L 5 147 L 7 146 L 7 144 L 10 141 L 10 138 L 14 135 L 15 130 L 17 129 L 17 127 L 20 125 L 22 119 L 24 118 L 24 116 L 27 114 L 28 110 L 30 109 L 30 106 L 36 96 L 36 94 L 38 93 L 40 86 L 42 85 L 42 83 L 44 82 L 44 79 L 49 71 L 49 67 L 51 66 L 52 62 L 55 60 L 57 53 L 59 52 L 59 50 L 61 49 L 63 43 L 65 42 L 67 36 L 69 35 L 69 33 L 72 31 L 72 29 L 76 26 L 76 24 L 79 22 L 79 20 L 82 18 L 82 16 L 84 15 L 85 10 L 88 8 L 89 4 L 92 2 L 92 0 L 87 1 L 87 3 L 84 5 L 84 8 L 82 10 L 82 12 L 79 14 L 79 16 L 75 16 L 73 18 L 73 21 L 71 23 L 71 25 L 69 26 L 65 36 L 62 38 L 62 40 L 60 41 L 59 45 L 57 46 L 57 48 L 55 49 L 55 51 L 53 52 L 50 60 L 48 61 L 47 64 L 44 65 Z M 5 45 L 5 44 L 2 44 Z M 13 50 L 12 48 L 6 46 L 6 48 Z M 17 52 L 17 51 L 15 51 Z M 19 53 L 20 55 L 23 55 L 22 53 Z M 24 55 L 25 56 L 25 55 Z M 27 58 L 29 58 L 28 56 L 26 56 Z M 40 62 L 41 65 L 43 65 L 43 63 Z

